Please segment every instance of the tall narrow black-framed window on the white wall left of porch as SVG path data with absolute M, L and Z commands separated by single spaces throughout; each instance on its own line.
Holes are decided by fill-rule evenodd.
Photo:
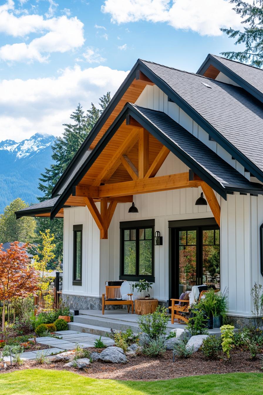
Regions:
M 82 228 L 73 226 L 73 285 L 82 285 Z

